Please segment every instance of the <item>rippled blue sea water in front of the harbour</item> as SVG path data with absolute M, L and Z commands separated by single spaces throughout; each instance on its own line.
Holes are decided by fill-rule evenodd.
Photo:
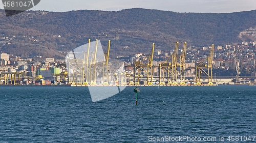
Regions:
M 84 87 L 0 87 L 0 142 L 229 142 L 231 135 L 256 135 L 255 86 L 139 89 L 135 105 L 133 87 L 94 103 Z

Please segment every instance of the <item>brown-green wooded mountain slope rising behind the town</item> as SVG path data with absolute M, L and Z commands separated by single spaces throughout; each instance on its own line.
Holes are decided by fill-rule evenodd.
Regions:
M 256 10 L 221 14 L 138 8 L 117 12 L 27 11 L 10 17 L 0 10 L 0 37 L 17 35 L 9 41 L 11 44 L 0 43 L 0 47 L 23 56 L 63 57 L 57 50 L 69 51 L 87 43 L 89 38 L 101 40 L 103 49 L 111 40 L 111 56 L 150 52 L 153 42 L 159 49 L 170 49 L 176 41 L 192 46 L 222 45 L 241 42 L 240 33 L 256 27 L 255 17 Z M 34 39 L 37 41 L 32 42 Z

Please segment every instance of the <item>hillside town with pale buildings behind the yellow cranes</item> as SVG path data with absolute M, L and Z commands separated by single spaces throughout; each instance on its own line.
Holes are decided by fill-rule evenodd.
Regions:
M 11 40 L 9 37 L 5 39 Z M 187 47 L 185 77 L 196 76 L 193 67 L 209 55 L 209 50 L 210 47 Z M 179 53 L 181 52 L 182 48 L 179 48 Z M 215 83 L 233 84 L 236 83 L 233 79 L 240 75 L 241 84 L 255 84 L 255 52 L 256 42 L 215 46 L 212 63 Z M 162 51 L 161 49 L 155 49 L 153 65 L 159 65 L 172 53 L 173 50 Z M 145 53 L 137 53 L 131 56 L 119 55 L 117 59 L 122 60 L 124 66 L 130 66 L 133 62 L 141 61 L 145 56 Z M 41 56 L 23 59 L 4 52 L 0 52 L 0 59 L 1 84 L 6 84 L 4 82 L 6 78 L 13 79 L 12 76 L 14 75 L 21 78 L 18 84 L 69 84 L 65 60 Z M 126 68 L 126 73 L 132 74 L 133 70 L 133 68 Z M 154 76 L 159 76 L 157 69 L 153 71 Z M 155 84 L 157 83 L 156 81 Z M 16 84 L 16 81 L 9 80 L 7 84 Z M 189 84 L 193 84 L 193 81 L 189 82 Z

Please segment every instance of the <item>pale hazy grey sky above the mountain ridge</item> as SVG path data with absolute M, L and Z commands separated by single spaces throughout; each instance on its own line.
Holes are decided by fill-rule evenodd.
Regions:
M 72 10 L 119 11 L 130 8 L 174 12 L 229 13 L 256 9 L 256 0 L 41 0 L 31 10 L 65 12 Z M 0 5 L 0 9 L 4 6 Z

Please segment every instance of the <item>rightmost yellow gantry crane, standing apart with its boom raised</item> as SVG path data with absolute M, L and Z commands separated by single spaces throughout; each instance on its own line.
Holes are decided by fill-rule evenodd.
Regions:
M 212 58 L 214 55 L 214 44 L 211 45 L 210 54 L 199 65 L 196 66 L 196 84 L 201 84 L 201 73 L 208 76 L 208 84 L 212 85 Z M 206 64 L 205 64 L 206 62 Z M 207 68 L 207 71 L 205 69 Z

